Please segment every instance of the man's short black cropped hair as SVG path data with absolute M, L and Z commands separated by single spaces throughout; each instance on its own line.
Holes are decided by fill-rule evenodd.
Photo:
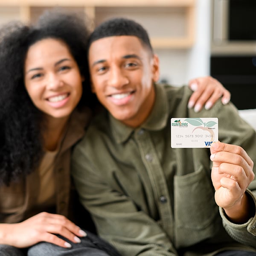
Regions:
M 119 35 L 131 35 L 140 39 L 141 43 L 148 47 L 150 52 L 153 49 L 149 40 L 148 32 L 134 20 L 126 18 L 113 18 L 101 23 L 90 35 L 88 49 L 90 45 L 101 38 Z

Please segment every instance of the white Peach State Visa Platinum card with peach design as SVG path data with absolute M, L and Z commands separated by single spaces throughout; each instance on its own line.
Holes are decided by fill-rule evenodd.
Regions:
M 218 141 L 218 118 L 172 118 L 172 148 L 209 148 Z

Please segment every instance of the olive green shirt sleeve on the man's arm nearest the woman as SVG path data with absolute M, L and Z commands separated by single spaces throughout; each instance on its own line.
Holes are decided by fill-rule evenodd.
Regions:
M 92 137 L 96 141 L 92 142 Z M 159 223 L 138 209 L 122 192 L 124 188 L 118 188 L 115 173 L 110 171 L 111 155 L 102 141 L 98 132 L 88 133 L 76 146 L 72 160 L 72 175 L 81 203 L 91 212 L 99 235 L 124 256 L 177 255 Z M 98 145 L 97 149 L 92 143 Z M 99 147 L 100 152 L 106 147 L 103 159 Z M 105 161 L 108 171 L 99 169 L 99 161 Z

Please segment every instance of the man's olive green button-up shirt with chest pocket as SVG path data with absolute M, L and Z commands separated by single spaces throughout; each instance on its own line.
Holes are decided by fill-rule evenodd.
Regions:
M 124 256 L 255 250 L 256 216 L 237 225 L 219 211 L 209 148 L 171 148 L 170 119 L 218 117 L 219 140 L 241 145 L 254 162 L 255 131 L 232 104 L 217 102 L 210 111 L 195 113 L 186 107 L 189 88 L 156 85 L 155 90 L 154 108 L 143 125 L 130 128 L 101 113 L 74 150 L 76 188 L 99 235 Z M 250 188 L 255 202 L 255 180 Z

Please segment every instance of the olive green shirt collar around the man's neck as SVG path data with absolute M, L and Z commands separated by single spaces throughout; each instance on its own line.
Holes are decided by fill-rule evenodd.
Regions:
M 154 107 L 146 121 L 137 128 L 131 128 L 119 120 L 115 119 L 110 113 L 110 126 L 113 131 L 113 137 L 117 143 L 123 143 L 131 136 L 135 130 L 145 129 L 150 131 L 161 130 L 168 121 L 168 99 L 163 85 L 154 84 L 156 98 Z

